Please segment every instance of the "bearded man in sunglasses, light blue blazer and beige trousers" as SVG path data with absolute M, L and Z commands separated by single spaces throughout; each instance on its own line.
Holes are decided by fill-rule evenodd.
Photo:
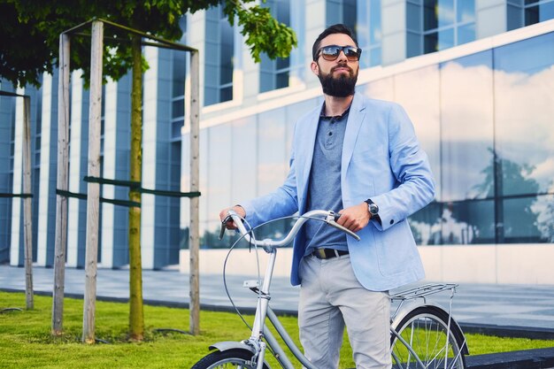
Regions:
M 309 221 L 294 242 L 300 341 L 318 369 L 338 367 L 345 326 L 357 369 L 391 367 L 389 289 L 424 276 L 406 219 L 435 196 L 427 155 L 404 109 L 355 91 L 361 53 L 343 25 L 319 35 L 311 68 L 324 101 L 296 122 L 287 180 L 219 213 L 223 221 L 233 209 L 256 227 L 295 212 L 334 210 L 337 223 L 360 236 L 357 242 Z M 233 221 L 227 228 L 235 229 Z

